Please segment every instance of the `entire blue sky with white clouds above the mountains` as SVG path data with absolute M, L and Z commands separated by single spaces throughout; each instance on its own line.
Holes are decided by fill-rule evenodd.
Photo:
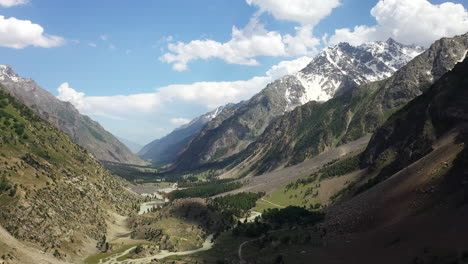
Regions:
M 393 37 L 428 46 L 464 33 L 463 2 L 0 0 L 0 64 L 115 135 L 147 143 L 248 99 L 326 45 Z M 26 20 L 44 32 L 17 23 Z

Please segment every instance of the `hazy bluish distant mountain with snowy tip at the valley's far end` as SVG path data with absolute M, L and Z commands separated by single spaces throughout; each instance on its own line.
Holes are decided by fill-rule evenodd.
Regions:
M 235 107 L 237 106 L 234 104 L 228 104 L 203 114 L 190 121 L 190 123 L 175 129 L 168 135 L 148 143 L 138 152 L 138 155 L 142 159 L 151 161 L 156 165 L 172 163 L 176 159 L 177 154 L 187 146 L 208 122 L 215 119 L 225 109 L 225 112 L 227 112 L 227 109 Z

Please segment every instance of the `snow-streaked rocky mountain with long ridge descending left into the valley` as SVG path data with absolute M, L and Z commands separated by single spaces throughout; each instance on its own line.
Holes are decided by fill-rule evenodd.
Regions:
M 254 142 L 276 117 L 307 102 L 327 101 L 389 77 L 422 51 L 392 39 L 325 48 L 306 68 L 268 84 L 226 119 L 207 125 L 179 155 L 174 169 L 190 170 L 229 158 Z

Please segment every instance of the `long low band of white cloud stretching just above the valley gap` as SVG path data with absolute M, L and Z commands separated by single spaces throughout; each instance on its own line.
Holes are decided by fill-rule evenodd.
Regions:
M 233 82 L 196 82 L 174 84 L 156 89 L 154 93 L 86 96 L 63 83 L 57 98 L 72 103 L 81 113 L 114 119 L 127 119 L 132 115 L 154 114 L 174 102 L 192 103 L 213 109 L 230 102 L 239 102 L 259 92 L 269 82 L 304 68 L 310 58 L 302 57 L 273 66 L 265 76 Z

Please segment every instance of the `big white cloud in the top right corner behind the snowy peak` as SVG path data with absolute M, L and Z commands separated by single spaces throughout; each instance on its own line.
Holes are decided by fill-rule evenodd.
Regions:
M 392 37 L 406 44 L 429 46 L 442 37 L 468 31 L 468 12 L 461 4 L 433 5 L 427 0 L 380 0 L 372 8 L 375 26 L 337 29 L 330 44 L 342 41 L 357 45 Z

